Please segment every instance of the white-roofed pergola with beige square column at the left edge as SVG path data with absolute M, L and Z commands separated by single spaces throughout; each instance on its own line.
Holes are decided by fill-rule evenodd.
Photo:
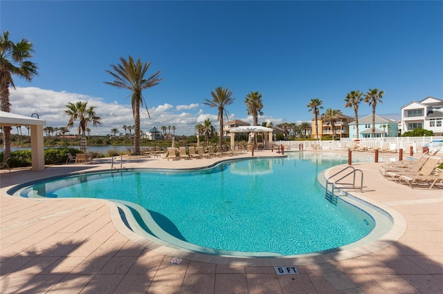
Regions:
M 44 170 L 43 126 L 46 126 L 46 121 L 0 111 L 0 126 L 30 126 L 32 170 Z

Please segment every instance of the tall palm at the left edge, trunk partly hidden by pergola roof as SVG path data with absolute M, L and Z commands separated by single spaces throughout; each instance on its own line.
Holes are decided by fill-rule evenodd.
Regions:
M 14 43 L 9 39 L 6 30 L 0 35 L 0 110 L 10 112 L 9 87 L 15 89 L 14 79 L 17 76 L 32 81 L 37 73 L 37 65 L 28 59 L 33 57 L 33 44 L 27 39 Z M 3 126 L 3 162 L 11 156 L 11 127 Z

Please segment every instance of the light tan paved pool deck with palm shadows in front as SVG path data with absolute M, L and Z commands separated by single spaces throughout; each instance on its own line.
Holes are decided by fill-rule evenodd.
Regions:
M 240 156 L 251 153 L 234 158 Z M 261 150 L 255 156 L 279 155 Z M 129 157 L 123 168 L 197 168 L 228 158 Z M 11 186 L 34 179 L 109 170 L 109 159 L 39 172 L 1 170 L 0 293 L 443 293 L 443 190 L 390 182 L 379 173 L 383 164 L 352 164 L 363 170 L 364 187 L 363 193 L 351 193 L 392 213 L 392 233 L 350 251 L 248 259 L 244 265 L 228 257 L 206 261 L 180 251 L 165 253 L 163 246 L 146 248 L 125 231 L 106 200 L 6 194 Z M 174 257 L 189 258 L 171 265 Z M 299 274 L 276 275 L 274 266 L 296 266 Z

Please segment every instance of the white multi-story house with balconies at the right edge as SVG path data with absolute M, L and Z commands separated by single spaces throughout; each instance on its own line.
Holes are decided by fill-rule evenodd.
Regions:
M 401 108 L 401 133 L 416 128 L 432 130 L 433 135 L 443 135 L 443 100 L 426 97 L 420 101 L 411 101 Z

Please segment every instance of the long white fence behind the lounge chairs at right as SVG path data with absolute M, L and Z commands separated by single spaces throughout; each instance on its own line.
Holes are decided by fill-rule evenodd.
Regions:
M 374 146 L 388 145 L 390 150 L 403 149 L 408 152 L 410 147 L 413 148 L 414 153 L 421 153 L 423 147 L 429 150 L 440 150 L 443 152 L 443 137 L 386 137 L 386 138 L 361 138 L 359 141 L 354 141 L 350 138 L 342 138 L 340 141 L 273 141 L 274 145 L 283 145 L 286 150 L 300 150 L 301 144 L 303 149 L 318 150 L 318 149 L 332 149 L 332 150 L 346 150 L 350 148 L 351 144 L 356 142 L 358 146 L 365 146 L 368 149 Z

